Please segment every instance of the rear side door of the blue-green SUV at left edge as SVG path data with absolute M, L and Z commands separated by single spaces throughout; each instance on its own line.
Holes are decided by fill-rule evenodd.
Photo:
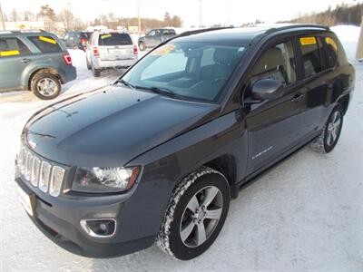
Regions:
M 18 38 L 0 38 L 0 89 L 21 86 L 21 75 L 32 53 Z

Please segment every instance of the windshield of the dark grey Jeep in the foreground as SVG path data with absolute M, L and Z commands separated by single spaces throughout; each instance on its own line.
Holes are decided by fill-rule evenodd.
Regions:
M 136 89 L 213 102 L 245 49 L 241 45 L 211 43 L 164 44 L 126 73 L 123 82 Z

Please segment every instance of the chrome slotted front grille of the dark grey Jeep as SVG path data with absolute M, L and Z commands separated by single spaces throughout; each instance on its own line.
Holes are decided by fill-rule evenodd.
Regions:
M 64 168 L 42 160 L 23 146 L 17 157 L 23 179 L 53 197 L 58 197 L 64 180 Z

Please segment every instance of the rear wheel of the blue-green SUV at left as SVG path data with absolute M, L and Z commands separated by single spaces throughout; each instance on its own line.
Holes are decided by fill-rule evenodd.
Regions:
M 52 73 L 37 73 L 32 78 L 30 89 L 38 98 L 51 100 L 61 92 L 61 83 Z

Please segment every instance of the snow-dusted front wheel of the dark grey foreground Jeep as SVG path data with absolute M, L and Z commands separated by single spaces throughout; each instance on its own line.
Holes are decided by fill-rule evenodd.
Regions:
M 157 246 L 181 260 L 201 255 L 220 234 L 230 199 L 230 186 L 221 172 L 208 167 L 195 170 L 174 189 Z

